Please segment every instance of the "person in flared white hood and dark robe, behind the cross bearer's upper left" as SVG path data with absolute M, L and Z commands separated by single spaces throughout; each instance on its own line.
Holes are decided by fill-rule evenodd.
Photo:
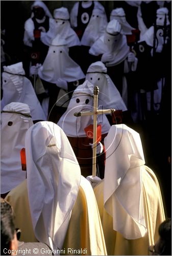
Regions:
M 64 113 L 71 93 L 81 82 L 80 80 L 85 78 L 80 66 L 69 57 L 67 42 L 60 35 L 53 39 L 38 75 L 50 96 L 45 112 L 52 115 L 52 117 L 48 116 L 48 120 L 54 121 L 56 106 L 59 107 L 60 113 Z

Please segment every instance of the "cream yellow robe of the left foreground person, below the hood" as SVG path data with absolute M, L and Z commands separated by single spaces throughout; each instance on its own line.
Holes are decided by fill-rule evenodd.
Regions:
M 85 189 L 83 186 L 79 188 L 77 200 L 72 208 L 63 251 L 60 254 L 65 252 L 65 255 L 107 255 L 99 209 L 95 197 L 92 197 L 92 193 L 85 193 Z M 27 180 L 12 189 L 5 199 L 14 209 L 15 226 L 22 230 L 20 241 L 37 242 L 30 215 Z M 89 201 L 93 203 L 91 207 Z M 80 251 L 68 252 L 68 248 Z M 84 249 L 86 250 L 83 251 Z

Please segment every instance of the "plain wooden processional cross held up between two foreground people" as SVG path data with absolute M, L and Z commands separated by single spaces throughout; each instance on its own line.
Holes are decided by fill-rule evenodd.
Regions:
M 94 87 L 94 105 L 93 105 L 93 111 L 82 111 L 82 112 L 76 112 L 74 116 L 92 116 L 93 115 L 93 149 L 92 149 L 92 177 L 95 177 L 96 175 L 96 137 L 97 137 L 97 115 L 103 115 L 103 114 L 109 114 L 114 113 L 114 109 L 108 109 L 108 110 L 98 110 L 98 94 L 99 94 L 99 87 Z

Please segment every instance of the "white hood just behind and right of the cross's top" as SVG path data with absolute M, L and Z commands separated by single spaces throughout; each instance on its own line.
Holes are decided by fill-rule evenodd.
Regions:
M 99 87 L 99 107 L 102 106 L 103 109 L 127 110 L 119 91 L 109 75 L 107 75 L 107 68 L 103 62 L 96 61 L 92 63 L 87 70 L 85 79 L 94 86 Z

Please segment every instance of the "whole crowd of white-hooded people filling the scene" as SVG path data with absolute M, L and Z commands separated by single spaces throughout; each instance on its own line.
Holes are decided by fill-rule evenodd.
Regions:
M 39 255 L 147 255 L 159 241 L 165 207 L 132 123 L 159 114 L 170 86 L 170 1 L 157 1 L 163 6 L 157 3 L 148 28 L 142 5 L 152 1 L 119 2 L 135 8 L 137 23 L 127 22 L 122 4 L 109 17 L 98 1 L 52 16 L 42 1 L 33 2 L 23 59 L 3 66 L 1 197 L 22 231 L 25 247 L 18 248 L 39 242 L 46 246 Z M 6 63 L 3 53 L 2 45 Z M 93 115 L 76 116 L 94 113 L 95 87 L 102 110 L 96 145 Z M 3 239 L 6 255 L 12 247 Z M 169 252 L 165 243 L 160 255 Z

